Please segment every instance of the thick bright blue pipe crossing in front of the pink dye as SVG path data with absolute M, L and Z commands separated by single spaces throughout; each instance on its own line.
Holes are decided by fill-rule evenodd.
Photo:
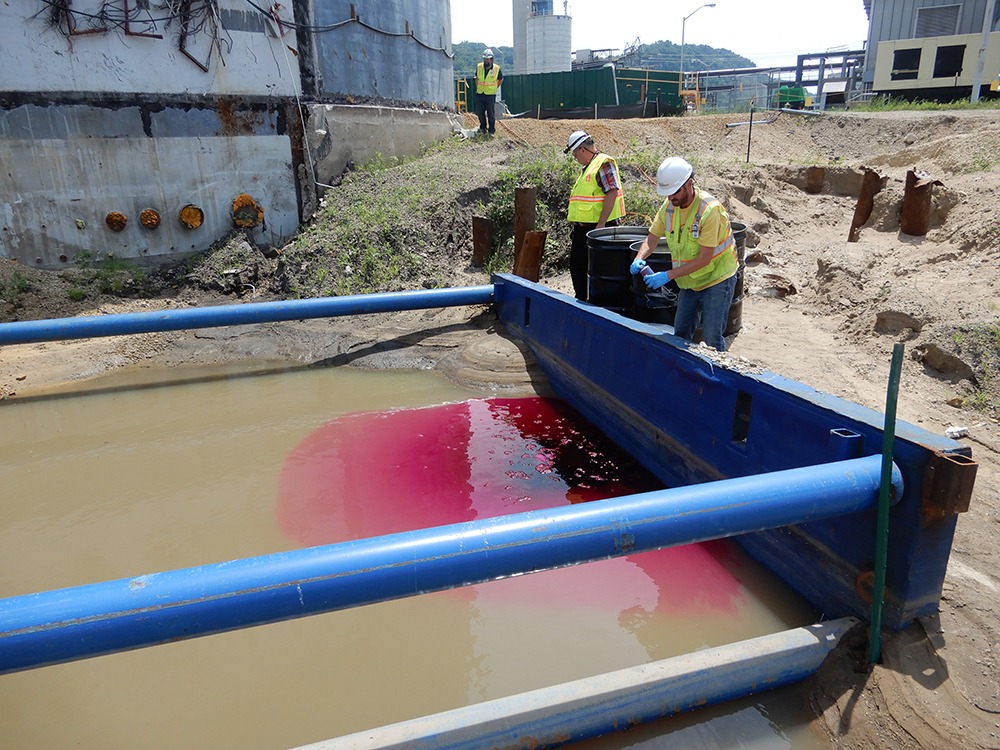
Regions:
M 874 507 L 880 468 L 868 456 L 11 597 L 0 674 L 854 513 Z

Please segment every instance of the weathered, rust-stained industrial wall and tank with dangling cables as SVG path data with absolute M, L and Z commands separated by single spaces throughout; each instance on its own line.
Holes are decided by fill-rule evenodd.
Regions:
M 431 51 L 373 28 L 402 22 L 414 34 L 433 27 L 435 38 L 446 29 L 450 40 L 448 0 L 355 3 L 353 17 L 341 5 L 350 3 L 261 6 L 279 9 L 268 15 L 246 0 L 216 0 L 216 15 L 207 0 L 178 0 L 173 17 L 136 3 L 126 17 L 102 0 L 0 3 L 0 257 L 60 268 L 81 253 L 163 259 L 205 250 L 234 228 L 241 194 L 263 210 L 248 228 L 253 239 L 283 244 L 315 206 L 317 179 L 447 137 L 447 117 L 433 110 L 452 98 L 450 41 Z M 355 49 L 354 37 L 320 31 L 335 19 L 371 35 L 367 62 L 345 63 L 358 68 L 350 74 L 325 51 Z M 411 49 L 408 70 L 398 67 L 400 44 Z M 412 66 L 424 53 L 414 49 L 433 68 L 420 82 Z M 336 96 L 331 81 L 343 82 Z M 310 107 L 324 99 L 376 106 L 341 118 Z M 387 116 L 387 104 L 403 108 Z M 359 118 L 378 132 L 361 137 Z M 318 142 L 306 135 L 315 131 Z M 192 207 L 197 226 L 181 220 Z M 151 212 L 155 225 L 139 220 Z

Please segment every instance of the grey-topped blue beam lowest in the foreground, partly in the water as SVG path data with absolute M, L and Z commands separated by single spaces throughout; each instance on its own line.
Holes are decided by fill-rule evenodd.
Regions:
M 851 617 L 640 664 L 297 750 L 562 747 L 811 676 L 859 623 Z

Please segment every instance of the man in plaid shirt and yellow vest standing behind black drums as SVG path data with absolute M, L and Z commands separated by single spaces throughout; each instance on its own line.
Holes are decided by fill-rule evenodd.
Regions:
M 617 226 L 625 214 L 625 196 L 618 176 L 618 164 L 594 145 L 585 130 L 574 130 L 566 139 L 563 153 L 583 167 L 569 196 L 566 219 L 572 227 L 569 247 L 569 275 L 573 293 L 579 300 L 587 299 L 587 232 L 602 227 Z

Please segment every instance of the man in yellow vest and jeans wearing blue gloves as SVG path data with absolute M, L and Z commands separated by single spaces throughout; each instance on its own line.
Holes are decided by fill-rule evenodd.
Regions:
M 664 159 L 656 172 L 656 192 L 666 200 L 656 212 L 629 270 L 642 273 L 645 258 L 666 237 L 671 268 L 644 274 L 646 286 L 670 282 L 679 288 L 674 333 L 692 341 L 701 318 L 701 337 L 720 352 L 739 263 L 729 214 L 715 197 L 694 184 L 694 167 L 679 156 Z

